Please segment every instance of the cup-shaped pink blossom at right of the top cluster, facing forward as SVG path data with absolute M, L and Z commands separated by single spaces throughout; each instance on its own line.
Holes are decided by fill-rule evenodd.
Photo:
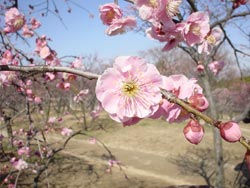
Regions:
M 189 46 L 203 42 L 210 30 L 209 17 L 205 12 L 194 12 L 185 22 L 177 25 Z

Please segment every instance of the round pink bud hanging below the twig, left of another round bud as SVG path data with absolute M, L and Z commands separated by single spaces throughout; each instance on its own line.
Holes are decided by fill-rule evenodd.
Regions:
M 196 120 L 190 120 L 184 127 L 185 138 L 192 144 L 199 144 L 204 135 L 204 129 Z

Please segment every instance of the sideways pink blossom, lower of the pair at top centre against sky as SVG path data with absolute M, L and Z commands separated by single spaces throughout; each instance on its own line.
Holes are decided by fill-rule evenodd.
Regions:
M 134 17 L 125 17 L 115 19 L 112 24 L 106 30 L 106 34 L 109 36 L 122 34 L 128 30 L 133 29 L 136 26 L 136 20 Z

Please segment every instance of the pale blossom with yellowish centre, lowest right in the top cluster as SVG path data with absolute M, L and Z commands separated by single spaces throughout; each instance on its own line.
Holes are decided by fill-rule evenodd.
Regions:
M 206 54 L 210 54 L 212 48 L 218 45 L 218 43 L 220 42 L 221 36 L 221 29 L 217 27 L 213 28 L 212 31 L 207 34 L 205 40 L 198 46 L 198 52 L 205 52 Z

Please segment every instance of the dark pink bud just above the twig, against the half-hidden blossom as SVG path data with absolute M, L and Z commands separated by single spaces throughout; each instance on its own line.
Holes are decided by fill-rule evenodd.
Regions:
M 205 111 L 209 106 L 209 103 L 208 103 L 206 97 L 200 93 L 194 94 L 193 96 L 191 96 L 189 98 L 188 101 L 192 107 L 194 107 L 195 109 L 197 109 L 201 112 Z

